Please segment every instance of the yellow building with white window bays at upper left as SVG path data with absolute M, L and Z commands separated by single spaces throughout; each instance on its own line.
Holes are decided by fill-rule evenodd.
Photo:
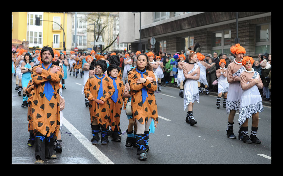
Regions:
M 40 18 L 40 25 L 36 24 L 36 17 Z M 56 22 L 56 23 L 54 23 Z M 63 12 L 12 12 L 12 39 L 29 42 L 29 49 L 50 46 L 63 50 L 63 42 L 67 43 L 67 35 L 62 28 L 67 26 Z M 63 40 L 64 39 L 64 40 Z

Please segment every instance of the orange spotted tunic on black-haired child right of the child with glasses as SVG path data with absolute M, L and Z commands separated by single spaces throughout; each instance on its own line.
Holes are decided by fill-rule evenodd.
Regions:
M 123 107 L 123 94 L 124 94 L 124 84 L 123 80 L 120 78 L 114 79 L 117 85 L 118 89 L 118 100 L 115 103 L 112 99 L 110 104 L 111 104 L 111 111 L 110 111 L 110 126 L 111 130 L 114 131 L 115 127 L 117 130 L 120 128 L 120 115 Z M 112 81 L 112 79 L 110 80 Z

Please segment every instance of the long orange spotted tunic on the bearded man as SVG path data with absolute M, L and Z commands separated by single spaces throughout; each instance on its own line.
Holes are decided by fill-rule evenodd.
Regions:
M 56 73 L 50 72 L 51 68 L 58 67 Z M 63 77 L 61 67 L 51 65 L 48 70 L 43 69 L 42 73 L 36 73 L 36 68 L 42 65 L 35 66 L 31 72 L 31 78 L 34 82 L 34 94 L 31 102 L 31 120 L 33 132 L 40 132 L 45 137 L 50 137 L 55 133 L 53 138 L 58 137 L 60 129 L 60 98 L 59 98 L 59 84 Z M 54 90 L 51 100 L 48 101 L 43 94 L 45 81 L 50 82 Z

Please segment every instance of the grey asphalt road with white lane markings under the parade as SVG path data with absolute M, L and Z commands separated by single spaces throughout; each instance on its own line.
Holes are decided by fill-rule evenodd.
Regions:
M 162 87 L 155 93 L 158 105 L 159 123 L 155 133 L 149 136 L 150 151 L 147 161 L 140 161 L 136 148 L 126 148 L 127 133 L 121 135 L 121 142 L 108 145 L 91 144 L 89 108 L 85 106 L 82 91 L 83 79 L 69 76 L 63 90 L 65 109 L 63 110 L 62 141 L 63 151 L 57 159 L 47 159 L 45 163 L 56 164 L 270 164 L 271 163 L 271 107 L 264 105 L 259 113 L 257 136 L 261 144 L 246 144 L 238 139 L 226 137 L 228 114 L 225 108 L 216 108 L 216 96 L 201 95 L 200 102 L 194 103 L 195 126 L 185 122 L 183 99 L 179 89 Z M 35 148 L 26 143 L 27 108 L 21 108 L 22 96 L 15 91 L 12 78 L 12 164 L 35 162 Z M 223 99 L 222 99 L 223 101 Z M 221 103 L 222 103 L 221 101 Z M 237 136 L 238 113 L 235 116 L 234 133 Z M 120 128 L 125 132 L 128 119 L 125 110 L 121 112 Z M 249 134 L 251 121 L 249 122 Z

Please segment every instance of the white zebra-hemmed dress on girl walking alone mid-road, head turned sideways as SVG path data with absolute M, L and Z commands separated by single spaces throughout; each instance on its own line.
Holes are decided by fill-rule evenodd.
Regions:
M 194 68 L 188 72 L 190 74 L 199 66 L 195 63 Z M 195 74 L 194 76 L 196 76 Z M 199 103 L 198 85 L 197 80 L 186 79 L 184 84 L 184 111 L 190 102 L 197 101 Z

